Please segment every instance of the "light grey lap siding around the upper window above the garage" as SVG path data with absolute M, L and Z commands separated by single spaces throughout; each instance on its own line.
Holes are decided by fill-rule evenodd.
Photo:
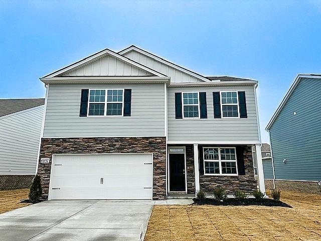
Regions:
M 79 117 L 81 89 L 131 89 L 131 116 Z M 165 136 L 164 84 L 50 84 L 44 138 Z

